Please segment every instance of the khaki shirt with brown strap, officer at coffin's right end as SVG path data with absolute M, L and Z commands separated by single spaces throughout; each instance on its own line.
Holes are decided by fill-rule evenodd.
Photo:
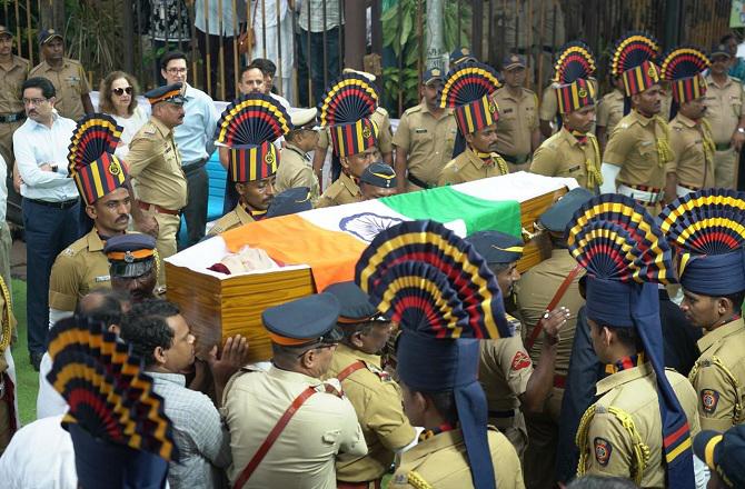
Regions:
M 520 280 L 515 285 L 515 298 L 520 319 L 525 323 L 524 338 L 533 332 L 533 328 L 543 318 L 546 312 L 546 306 L 552 301 L 554 295 L 564 281 L 577 266 L 577 262 L 568 250 L 554 249 L 550 258 L 534 266 L 526 271 Z M 556 307 L 564 306 L 569 309 L 570 317 L 567 323 L 562 328 L 560 340 L 556 350 L 555 372 L 557 376 L 566 377 L 569 370 L 569 357 L 572 356 L 572 345 L 574 343 L 574 330 L 577 326 L 577 312 L 585 305 L 585 299 L 579 295 L 579 279 L 584 272 L 577 273 L 575 280 L 564 292 L 562 300 Z M 538 335 L 533 348 L 530 358 L 538 362 L 540 358 L 540 348 L 544 341 L 544 335 Z

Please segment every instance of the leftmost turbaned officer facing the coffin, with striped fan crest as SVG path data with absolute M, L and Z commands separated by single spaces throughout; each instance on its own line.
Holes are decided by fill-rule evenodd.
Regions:
M 90 231 L 57 256 L 49 277 L 49 326 L 72 313 L 78 300 L 93 289 L 110 287 L 105 241 L 123 234 L 131 202 L 126 166 L 113 154 L 117 122 L 106 114 L 88 116 L 72 136 L 70 174 L 83 199 L 86 229 Z M 93 148 L 109 146 L 98 157 Z

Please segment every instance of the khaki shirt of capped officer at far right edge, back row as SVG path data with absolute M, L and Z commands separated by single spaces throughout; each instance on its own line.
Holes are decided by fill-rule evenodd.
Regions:
M 712 136 L 717 144 L 729 144 L 732 134 L 739 124 L 739 118 L 745 116 L 745 88 L 742 82 L 732 77 L 719 86 L 711 74 L 706 76 L 706 120 L 712 124 Z

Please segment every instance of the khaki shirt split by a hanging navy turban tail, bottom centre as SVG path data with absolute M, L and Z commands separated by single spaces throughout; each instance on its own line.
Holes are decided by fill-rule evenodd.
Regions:
M 499 431 L 489 427 L 487 431 L 494 476 L 499 489 L 522 489 L 523 469 L 515 448 Z M 389 489 L 436 488 L 473 489 L 466 445 L 459 429 L 438 433 L 400 456 L 396 473 L 388 483 Z

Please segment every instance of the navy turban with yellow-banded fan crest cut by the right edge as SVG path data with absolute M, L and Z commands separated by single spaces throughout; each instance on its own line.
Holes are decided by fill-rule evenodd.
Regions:
M 745 192 L 698 190 L 668 204 L 659 218 L 678 251 L 684 289 L 712 297 L 745 291 Z

